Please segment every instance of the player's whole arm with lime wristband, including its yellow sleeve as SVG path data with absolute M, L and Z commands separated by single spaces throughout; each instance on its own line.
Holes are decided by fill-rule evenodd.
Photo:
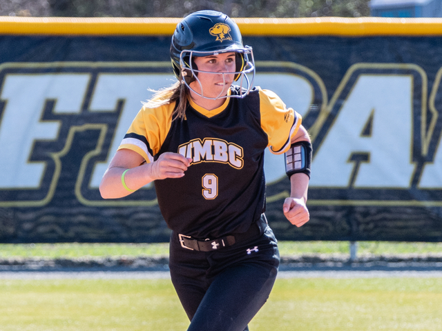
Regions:
M 165 152 L 154 158 L 171 128 L 174 108 L 175 103 L 165 103 L 138 112 L 99 185 L 104 199 L 126 197 L 157 179 L 184 176 L 190 164 L 186 157 Z

